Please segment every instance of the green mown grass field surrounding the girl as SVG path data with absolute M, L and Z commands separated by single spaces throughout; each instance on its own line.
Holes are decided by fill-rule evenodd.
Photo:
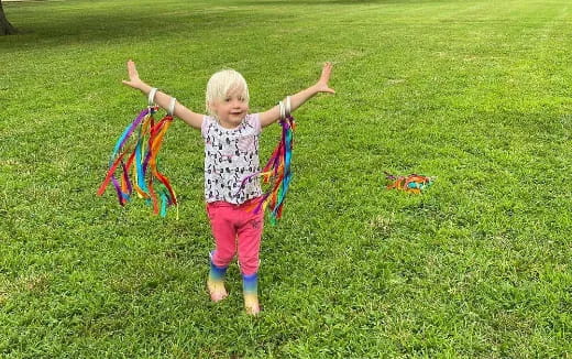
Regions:
M 572 356 L 572 3 L 565 0 L 69 0 L 6 3 L 0 39 L 0 357 Z M 162 170 L 179 219 L 96 197 L 145 105 L 201 111 L 232 67 L 258 111 L 334 63 L 295 115 L 285 218 L 260 297 L 206 292 L 200 133 Z M 278 139 L 263 134 L 263 157 Z M 438 180 L 416 196 L 384 171 Z

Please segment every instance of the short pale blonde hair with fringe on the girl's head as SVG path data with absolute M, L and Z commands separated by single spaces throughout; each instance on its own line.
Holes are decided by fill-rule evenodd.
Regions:
M 206 107 L 207 113 L 211 113 L 210 104 L 223 100 L 229 94 L 238 91 L 249 102 L 249 86 L 239 72 L 223 69 L 212 75 L 207 83 Z

